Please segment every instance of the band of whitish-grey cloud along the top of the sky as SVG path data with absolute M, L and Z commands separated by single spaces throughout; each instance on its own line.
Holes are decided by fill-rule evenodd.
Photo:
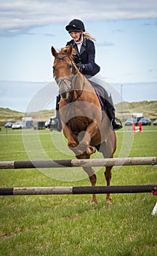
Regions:
M 157 18 L 156 0 L 0 0 L 1 35 L 25 33 L 36 26 L 86 21 Z

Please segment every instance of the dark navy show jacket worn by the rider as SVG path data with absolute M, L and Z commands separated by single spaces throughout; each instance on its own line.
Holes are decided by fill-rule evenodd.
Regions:
M 95 48 L 94 42 L 92 42 L 91 39 L 84 37 L 80 53 L 77 48 L 76 42 L 73 39 L 67 42 L 66 46 L 71 44 L 76 50 L 76 56 L 74 58 L 75 63 L 78 64 L 79 62 L 81 62 L 82 64 L 84 64 L 85 68 L 82 70 L 83 75 L 93 76 L 100 72 L 100 67 L 94 62 Z

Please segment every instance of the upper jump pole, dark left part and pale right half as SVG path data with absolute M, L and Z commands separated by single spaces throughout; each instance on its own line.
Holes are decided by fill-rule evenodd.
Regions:
M 41 161 L 1 161 L 0 169 L 27 169 L 52 167 L 102 167 L 122 165 L 157 165 L 157 157 L 128 157 L 106 159 L 63 159 Z

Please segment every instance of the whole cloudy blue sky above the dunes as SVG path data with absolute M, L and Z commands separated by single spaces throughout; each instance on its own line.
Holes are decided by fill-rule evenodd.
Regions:
M 100 74 L 118 93 L 123 85 L 124 100 L 156 100 L 156 0 L 0 0 L 0 107 L 25 111 L 54 81 L 50 48 L 71 39 L 65 26 L 73 18 L 97 39 Z

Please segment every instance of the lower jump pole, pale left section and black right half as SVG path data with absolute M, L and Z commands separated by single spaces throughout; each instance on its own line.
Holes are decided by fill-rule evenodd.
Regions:
M 157 184 L 100 187 L 6 187 L 0 195 L 81 195 L 156 192 Z

